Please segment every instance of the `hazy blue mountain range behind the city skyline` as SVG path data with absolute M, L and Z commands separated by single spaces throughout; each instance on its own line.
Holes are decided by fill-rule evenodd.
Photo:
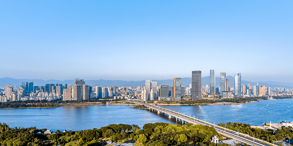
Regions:
M 229 87 L 234 87 L 234 77 L 227 76 L 226 79 L 229 81 Z M 41 79 L 13 79 L 13 78 L 0 78 L 0 86 L 5 87 L 7 85 L 21 85 L 21 82 L 31 82 L 33 80 L 34 86 L 41 86 L 45 84 L 74 84 L 74 80 L 41 80 Z M 173 79 L 167 79 L 167 80 L 152 80 L 156 81 L 157 85 L 169 85 L 173 86 L 174 81 Z M 122 80 L 85 80 L 87 85 L 95 86 L 95 85 L 102 85 L 102 86 L 144 86 L 145 80 L 142 81 L 122 81 Z M 191 84 L 191 78 L 181 78 L 181 85 L 186 86 Z M 209 76 L 202 77 L 202 86 L 209 85 Z M 251 86 L 256 85 L 256 82 L 251 81 L 241 81 L 241 84 L 250 84 Z M 282 87 L 282 88 L 293 88 L 293 83 L 281 83 L 281 82 L 274 82 L 274 81 L 259 81 L 259 86 L 265 85 L 266 87 Z M 216 77 L 216 87 L 220 86 L 220 77 Z

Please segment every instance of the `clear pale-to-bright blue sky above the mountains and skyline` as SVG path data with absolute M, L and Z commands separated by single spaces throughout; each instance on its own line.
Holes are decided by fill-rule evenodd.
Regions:
M 0 78 L 293 82 L 293 1 L 0 1 Z

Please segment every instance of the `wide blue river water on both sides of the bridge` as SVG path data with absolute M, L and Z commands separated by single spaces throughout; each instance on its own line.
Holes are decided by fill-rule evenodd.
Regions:
M 269 105 L 269 106 L 267 106 Z M 146 123 L 166 122 L 181 124 L 167 114 L 157 114 L 146 109 L 131 109 L 128 105 L 98 105 L 93 107 L 57 107 L 0 109 L 0 121 L 14 127 L 47 128 L 53 131 L 100 128 L 109 124 L 135 124 L 142 127 Z M 161 106 L 162 107 L 162 106 Z M 265 121 L 277 123 L 284 119 L 293 121 L 293 99 L 260 100 L 237 106 L 221 105 L 163 105 L 167 109 L 206 119 L 207 122 L 240 122 L 262 125 Z M 49 115 L 51 113 L 51 115 Z M 290 117 L 291 116 L 291 117 Z

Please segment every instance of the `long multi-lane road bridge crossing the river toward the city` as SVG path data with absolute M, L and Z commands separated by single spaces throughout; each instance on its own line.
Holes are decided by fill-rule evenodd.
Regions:
M 224 128 L 224 127 L 221 127 L 221 126 L 217 126 L 215 124 L 212 124 L 212 123 L 209 123 L 209 122 L 206 122 L 206 121 L 202 121 L 200 119 L 196 119 L 193 117 L 190 117 L 190 116 L 187 116 L 187 115 L 184 115 L 184 114 L 180 114 L 179 112 L 175 112 L 175 111 L 172 111 L 172 110 L 169 110 L 169 109 L 165 109 L 165 108 L 162 108 L 162 107 L 157 107 L 157 106 L 154 106 L 154 105 L 151 105 L 151 104 L 148 104 L 148 103 L 145 103 L 145 100 L 135 100 L 135 99 L 130 99 L 129 101 L 132 101 L 134 102 L 135 104 L 137 105 L 144 105 L 146 107 L 149 108 L 149 110 L 152 110 L 152 111 L 157 111 L 158 114 L 159 113 L 164 113 L 164 114 L 168 114 L 169 115 L 169 118 L 175 118 L 176 121 L 177 120 L 181 120 L 182 121 L 182 124 L 185 123 L 191 123 L 193 125 L 195 124 L 201 124 L 201 125 L 206 125 L 206 126 L 210 126 L 210 127 L 214 127 L 215 130 L 226 136 L 226 137 L 229 137 L 229 138 L 232 138 L 234 140 L 237 140 L 239 142 L 243 142 L 243 143 L 246 143 L 248 145 L 254 145 L 254 146 L 277 146 L 275 144 L 272 144 L 270 142 L 266 142 L 264 140 L 260 140 L 260 139 L 257 139 L 257 138 L 254 138 L 254 137 L 251 137 L 249 135 L 245 135 L 243 133 L 239 133 L 237 131 L 232 131 L 230 129 L 227 129 L 227 128 Z

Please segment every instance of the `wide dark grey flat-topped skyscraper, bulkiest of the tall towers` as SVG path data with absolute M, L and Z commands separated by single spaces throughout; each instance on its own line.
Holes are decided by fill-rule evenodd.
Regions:
M 192 100 L 202 99 L 201 93 L 201 71 L 192 71 Z

